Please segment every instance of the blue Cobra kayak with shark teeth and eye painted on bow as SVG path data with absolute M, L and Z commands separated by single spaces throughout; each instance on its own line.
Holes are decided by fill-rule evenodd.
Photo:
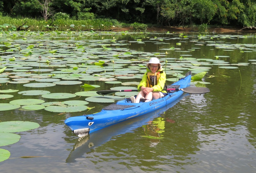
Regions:
M 167 88 L 175 88 L 177 90 L 169 92 L 162 98 L 150 102 L 143 102 L 145 100 L 141 99 L 142 102 L 140 103 L 131 103 L 130 98 L 126 98 L 104 107 L 98 113 L 70 117 L 65 120 L 65 124 L 77 136 L 87 136 L 89 133 L 155 111 L 174 102 L 183 94 L 183 91 L 178 89 L 189 87 L 190 81 L 191 72 L 188 72 L 184 78 L 168 85 Z

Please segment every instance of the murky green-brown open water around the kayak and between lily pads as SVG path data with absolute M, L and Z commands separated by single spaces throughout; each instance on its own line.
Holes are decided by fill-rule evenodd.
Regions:
M 170 52 L 168 50 L 168 58 L 177 58 L 175 61 L 181 60 L 180 56 L 183 58 L 209 58 L 228 64 L 248 63 L 248 65 L 231 65 L 238 67 L 236 69 L 218 68 L 221 66 L 218 63 L 205 65 L 203 67 L 211 67 L 207 75 L 215 76 L 212 78 L 205 76 L 203 81 L 208 83 L 201 84 L 208 87 L 210 93 L 184 94 L 179 101 L 168 105 L 168 107 L 94 132 L 82 141 L 78 141 L 79 138 L 64 124 L 67 117 L 81 115 L 81 112 L 59 115 L 59 113 L 45 110 L 1 111 L 1 121 L 32 121 L 39 123 L 40 127 L 26 132 L 18 132 L 17 134 L 21 136 L 19 142 L 0 147 L 11 152 L 9 159 L 0 162 L 0 171 L 2 173 L 255 172 L 256 65 L 253 63 L 254 61 L 249 60 L 255 60 L 256 38 L 254 35 L 248 35 L 247 38 L 237 37 L 238 35 L 219 35 L 214 39 L 208 37 L 198 40 L 197 34 L 188 35 L 190 37 L 184 39 L 184 42 L 179 39 L 178 34 L 155 33 L 136 36 L 111 35 L 109 37 L 114 36 L 118 40 L 124 40 L 123 43 L 125 41 L 129 43 L 120 45 L 121 48 L 138 52 L 160 52 L 163 59 L 165 58 L 165 49 L 178 47 L 181 48 L 180 51 Z M 133 42 L 143 37 L 150 38 L 144 43 Z M 162 38 L 164 44 L 159 44 L 159 40 L 155 40 L 154 37 Z M 36 40 L 36 38 L 34 39 Z M 194 40 L 197 42 L 195 43 Z M 92 40 L 84 38 L 84 41 Z M 74 40 L 74 42 L 76 41 Z M 178 42 L 181 42 L 182 45 L 176 45 Z M 216 48 L 217 44 L 223 43 L 227 44 L 223 45 L 225 48 Z M 234 49 L 236 45 L 239 45 L 240 48 Z M 241 49 L 242 46 L 245 46 L 246 49 Z M 191 49 L 193 51 L 189 51 Z M 2 55 L 2 57 L 5 56 L 6 54 Z M 219 58 L 215 56 L 219 56 Z M 132 58 L 136 59 L 137 55 Z M 185 60 L 182 59 L 182 61 Z M 188 60 L 187 63 L 191 64 L 191 61 Z M 195 62 L 192 63 L 195 64 Z M 184 71 L 182 74 L 188 71 L 178 70 Z M 122 82 L 140 81 L 138 78 L 119 80 Z M 105 84 L 102 81 L 90 81 L 89 84 L 100 85 L 101 88 L 97 90 L 113 87 L 113 84 Z M 192 85 L 199 84 L 192 83 Z M 61 92 L 75 93 L 81 90 L 79 86 L 58 85 L 47 88 L 47 90 L 52 93 L 60 90 Z M 121 85 L 115 84 L 115 86 Z M 29 90 L 23 84 L 2 84 L 0 87 L 0 89 Z M 14 95 L 15 99 L 31 97 L 17 93 Z M 79 99 L 84 100 L 84 98 Z M 9 101 L 1 100 L 5 103 Z M 49 101 L 58 100 L 47 100 L 47 102 Z M 88 106 L 96 106 L 93 111 L 97 112 L 107 105 L 109 103 L 89 103 Z M 141 137 L 145 134 L 164 138 Z M 35 157 L 22 158 L 24 156 Z

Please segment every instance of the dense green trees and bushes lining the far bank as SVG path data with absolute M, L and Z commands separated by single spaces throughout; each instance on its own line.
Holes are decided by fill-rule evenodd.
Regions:
M 43 1 L 40 0 L 40 2 Z M 52 27 L 52 21 L 48 21 L 48 18 L 45 17 L 49 17 L 53 12 L 56 12 L 53 19 L 61 21 L 54 24 L 59 28 L 60 25 L 65 26 L 64 29 L 69 29 L 71 24 L 74 24 L 75 27 L 79 26 L 79 29 L 82 29 L 81 25 L 87 26 L 86 24 L 79 25 L 81 22 L 77 22 L 77 24 L 73 22 L 65 23 L 64 20 L 94 20 L 96 18 L 115 19 L 124 23 L 134 22 L 134 29 L 137 31 L 145 31 L 145 26 L 138 26 L 140 23 L 182 27 L 203 23 L 255 27 L 255 3 L 255 0 L 51 0 L 47 6 L 47 12 L 49 13 L 43 16 L 41 13 L 43 7 L 38 0 L 11 0 L 0 1 L 0 16 L 9 15 L 15 17 L 15 19 L 29 16 L 39 20 L 44 17 L 46 21 L 44 24 L 38 22 L 39 20 L 35 23 L 32 22 L 32 24 L 36 24 L 35 27 L 38 26 L 38 28 L 32 28 L 32 25 L 29 25 L 30 19 L 16 24 L 8 21 L 2 22 L 1 17 L 0 24 L 8 23 L 18 27 L 27 22 L 26 25 L 31 26 L 30 30 L 41 30 L 40 27 L 47 26 L 47 24 Z M 119 22 L 109 22 L 113 23 L 112 26 L 122 26 Z M 104 27 L 102 25 L 102 27 L 99 27 L 100 25 L 90 24 L 93 29 L 106 29 L 106 24 L 103 25 Z

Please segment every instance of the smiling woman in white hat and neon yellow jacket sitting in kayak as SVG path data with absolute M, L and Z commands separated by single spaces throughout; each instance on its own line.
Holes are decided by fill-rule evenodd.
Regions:
M 167 94 L 162 91 L 165 87 L 166 74 L 162 68 L 158 58 L 151 58 L 146 64 L 146 72 L 144 73 L 140 84 L 138 85 L 137 97 L 131 97 L 132 103 L 139 103 L 141 98 L 147 99 L 149 102 L 152 99 L 158 99 Z

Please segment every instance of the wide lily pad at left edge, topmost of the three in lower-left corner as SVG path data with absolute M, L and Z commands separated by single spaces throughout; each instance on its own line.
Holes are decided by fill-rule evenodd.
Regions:
M 39 126 L 40 125 L 38 123 L 29 121 L 6 121 L 0 123 L 0 132 L 24 132 L 27 130 L 38 128 Z

